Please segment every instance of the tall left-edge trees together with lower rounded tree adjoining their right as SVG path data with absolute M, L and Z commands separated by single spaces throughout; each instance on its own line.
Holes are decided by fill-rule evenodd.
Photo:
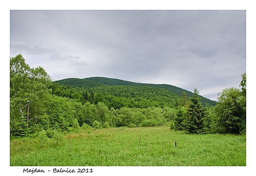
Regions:
M 41 129 L 67 131 L 76 113 L 67 98 L 52 95 L 52 80 L 30 68 L 21 54 L 10 58 L 10 135 L 28 136 Z

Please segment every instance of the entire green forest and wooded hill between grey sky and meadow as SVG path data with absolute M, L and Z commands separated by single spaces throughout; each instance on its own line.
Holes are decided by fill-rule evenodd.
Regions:
M 218 102 L 166 84 L 91 77 L 52 81 L 21 54 L 10 58 L 10 136 L 72 127 L 168 125 L 188 133 L 246 133 L 246 73 L 241 90 L 226 88 Z

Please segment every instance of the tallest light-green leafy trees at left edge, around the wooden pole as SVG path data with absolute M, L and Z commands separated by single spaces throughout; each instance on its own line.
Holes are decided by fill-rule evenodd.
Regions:
M 45 70 L 30 68 L 21 54 L 10 58 L 10 135 L 36 130 L 38 118 L 45 117 L 44 102 L 51 84 Z

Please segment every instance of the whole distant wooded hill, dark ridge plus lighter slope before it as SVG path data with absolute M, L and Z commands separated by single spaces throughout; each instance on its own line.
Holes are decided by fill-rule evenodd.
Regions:
M 120 105 L 122 106 L 122 103 L 124 103 L 124 100 L 120 101 L 120 99 L 115 98 L 125 98 L 129 107 L 147 108 L 153 105 L 163 107 L 161 104 L 162 102 L 164 102 L 165 105 L 169 103 L 169 105 L 177 106 L 180 101 L 179 96 L 183 93 L 188 96 L 192 96 L 192 92 L 172 85 L 135 83 L 106 77 L 89 77 L 84 79 L 67 78 L 55 82 L 66 86 L 69 84 L 70 87 L 80 90 L 81 92 L 90 92 L 93 90 L 95 98 L 96 94 L 103 96 L 100 101 L 104 102 L 109 107 L 114 107 L 115 109 L 121 108 Z M 108 97 L 111 95 L 114 97 L 112 97 L 111 100 L 107 99 L 104 95 L 107 95 Z M 94 103 L 97 103 L 98 100 L 95 99 L 96 102 Z M 118 101 L 118 104 L 115 104 L 115 101 Z M 137 103 L 134 103 L 134 101 Z M 216 104 L 216 101 L 211 101 L 204 97 L 201 97 L 200 101 L 203 105 Z M 108 102 L 113 104 L 110 105 Z

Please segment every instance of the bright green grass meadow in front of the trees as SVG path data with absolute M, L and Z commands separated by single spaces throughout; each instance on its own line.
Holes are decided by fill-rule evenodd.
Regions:
M 168 126 L 87 128 L 60 143 L 11 139 L 10 166 L 246 166 L 246 136 L 189 135 Z

